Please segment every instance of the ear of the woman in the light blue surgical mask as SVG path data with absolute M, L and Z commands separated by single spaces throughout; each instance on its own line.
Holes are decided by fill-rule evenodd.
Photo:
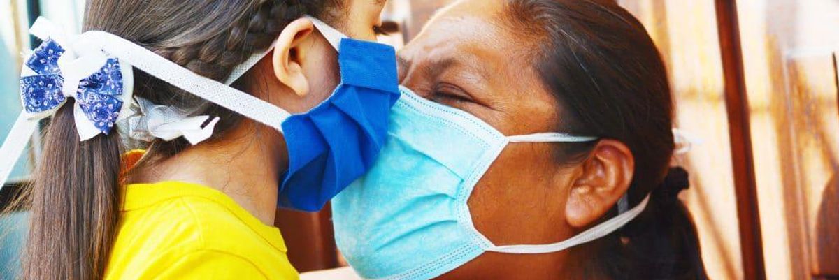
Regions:
M 601 140 L 580 167 L 565 204 L 565 220 L 581 228 L 600 220 L 626 194 L 635 172 L 629 148 L 615 140 Z

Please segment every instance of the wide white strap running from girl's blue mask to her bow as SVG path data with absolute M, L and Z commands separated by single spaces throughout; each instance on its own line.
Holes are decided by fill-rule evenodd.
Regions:
M 279 132 L 283 132 L 283 122 L 291 117 L 288 111 L 278 106 L 216 80 L 197 75 L 117 35 L 103 31 L 88 31 L 81 34 L 80 39 L 96 44 L 112 57 L 125 60 L 139 70 L 164 80 L 172 86 L 177 86 L 268 127 L 273 127 Z

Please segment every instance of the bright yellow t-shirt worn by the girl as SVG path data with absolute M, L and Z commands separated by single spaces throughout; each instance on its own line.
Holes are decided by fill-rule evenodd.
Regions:
M 128 184 L 105 279 L 299 279 L 279 229 L 198 184 Z

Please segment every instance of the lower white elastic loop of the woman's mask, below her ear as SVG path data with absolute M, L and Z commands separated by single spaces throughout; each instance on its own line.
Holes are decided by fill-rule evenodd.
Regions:
M 565 241 L 544 245 L 492 246 L 490 248 L 487 248 L 487 251 L 496 251 L 508 254 L 545 254 L 563 251 L 573 246 L 595 241 L 598 238 L 607 236 L 614 231 L 618 231 L 618 229 L 620 229 L 621 227 L 626 226 L 626 224 L 629 221 L 635 219 L 635 217 L 637 217 L 638 215 L 641 215 L 641 212 L 644 212 L 644 208 L 647 207 L 648 202 L 649 194 L 647 194 L 647 197 L 645 197 L 644 200 L 641 201 L 641 203 L 638 204 L 638 206 L 635 206 L 632 210 L 628 210 L 621 215 L 617 215 L 614 218 L 609 219 L 600 225 L 591 227 L 590 229 L 583 231 L 580 234 L 571 237 Z

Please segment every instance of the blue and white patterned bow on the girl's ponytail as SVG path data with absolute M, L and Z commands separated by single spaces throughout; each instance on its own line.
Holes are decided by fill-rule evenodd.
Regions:
M 75 98 L 74 115 L 81 141 L 108 134 L 131 102 L 131 66 L 101 49 L 72 38 L 45 18 L 30 32 L 44 40 L 23 65 L 20 96 L 29 119 L 49 117 Z M 127 117 L 127 116 L 123 116 Z

